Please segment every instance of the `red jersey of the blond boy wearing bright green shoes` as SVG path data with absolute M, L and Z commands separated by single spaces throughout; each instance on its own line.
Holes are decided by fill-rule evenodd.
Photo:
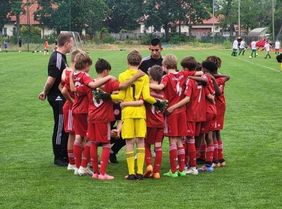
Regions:
M 184 98 L 184 88 L 186 77 L 181 72 L 169 73 L 162 78 L 164 87 L 164 95 L 168 100 L 168 107 L 178 103 Z M 173 113 L 180 113 L 186 110 L 185 105 L 177 108 Z M 172 113 L 172 114 L 173 114 Z

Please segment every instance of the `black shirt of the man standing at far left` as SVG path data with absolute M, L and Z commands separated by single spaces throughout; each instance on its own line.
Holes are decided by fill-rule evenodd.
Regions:
M 62 96 L 58 86 L 61 83 L 62 72 L 67 67 L 66 60 L 66 55 L 60 52 L 54 51 L 51 54 L 48 63 L 48 76 L 51 76 L 56 80 L 47 96 Z

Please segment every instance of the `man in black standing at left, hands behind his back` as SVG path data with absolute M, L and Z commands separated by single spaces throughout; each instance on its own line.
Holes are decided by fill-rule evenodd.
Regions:
M 61 33 L 58 36 L 58 48 L 49 59 L 48 77 L 39 99 L 44 101 L 47 97 L 54 114 L 54 129 L 52 136 L 54 164 L 67 166 L 67 141 L 68 135 L 64 132 L 63 126 L 63 105 L 64 97 L 59 90 L 61 75 L 67 67 L 66 54 L 73 47 L 73 38 L 70 33 Z

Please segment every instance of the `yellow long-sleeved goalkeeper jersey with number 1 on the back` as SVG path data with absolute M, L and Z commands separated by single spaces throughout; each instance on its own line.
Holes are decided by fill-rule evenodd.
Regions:
M 135 75 L 136 69 L 127 69 L 119 74 L 119 82 L 123 83 Z M 130 87 L 120 90 L 118 94 L 112 94 L 112 100 L 131 102 L 143 99 L 144 101 L 153 104 L 156 102 L 154 97 L 150 95 L 149 77 L 144 75 L 135 81 Z M 145 106 L 127 106 L 121 111 L 121 119 L 126 118 L 146 118 Z

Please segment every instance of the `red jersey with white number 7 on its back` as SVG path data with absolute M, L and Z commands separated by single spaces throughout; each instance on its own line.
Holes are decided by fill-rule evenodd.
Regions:
M 185 96 L 190 97 L 186 106 L 187 121 L 206 121 L 206 96 L 204 87 L 193 79 L 186 81 Z

